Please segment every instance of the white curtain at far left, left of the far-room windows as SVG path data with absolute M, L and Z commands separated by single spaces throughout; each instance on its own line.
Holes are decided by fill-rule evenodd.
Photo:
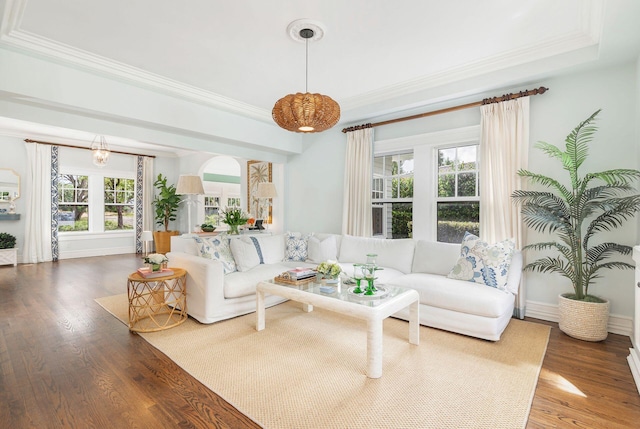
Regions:
M 25 143 L 27 148 L 27 199 L 25 210 L 24 263 L 52 260 L 51 254 L 51 149 L 49 145 Z

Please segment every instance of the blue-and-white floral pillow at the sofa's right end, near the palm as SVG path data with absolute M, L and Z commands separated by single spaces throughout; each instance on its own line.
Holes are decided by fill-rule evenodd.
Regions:
M 462 239 L 460 259 L 447 277 L 506 290 L 514 250 L 513 240 L 489 244 L 467 232 Z

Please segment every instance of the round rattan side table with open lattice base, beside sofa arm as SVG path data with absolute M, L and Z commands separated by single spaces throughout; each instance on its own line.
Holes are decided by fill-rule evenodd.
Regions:
M 187 320 L 187 272 L 170 268 L 173 274 L 145 278 L 129 275 L 129 330 L 154 332 L 178 326 Z

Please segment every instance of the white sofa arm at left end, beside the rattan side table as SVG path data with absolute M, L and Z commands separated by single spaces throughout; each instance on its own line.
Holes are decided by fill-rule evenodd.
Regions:
M 169 266 L 187 271 L 187 313 L 203 322 L 213 309 L 224 305 L 224 268 L 220 261 L 169 252 Z

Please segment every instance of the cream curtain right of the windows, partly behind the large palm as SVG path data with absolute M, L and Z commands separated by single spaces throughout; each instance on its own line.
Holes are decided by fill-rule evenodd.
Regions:
M 517 175 L 526 169 L 529 153 L 529 97 L 481 107 L 480 235 L 488 242 L 515 239 L 525 244 L 520 210 L 511 194 L 523 188 Z M 524 317 L 524 277 L 516 299 L 516 315 Z

